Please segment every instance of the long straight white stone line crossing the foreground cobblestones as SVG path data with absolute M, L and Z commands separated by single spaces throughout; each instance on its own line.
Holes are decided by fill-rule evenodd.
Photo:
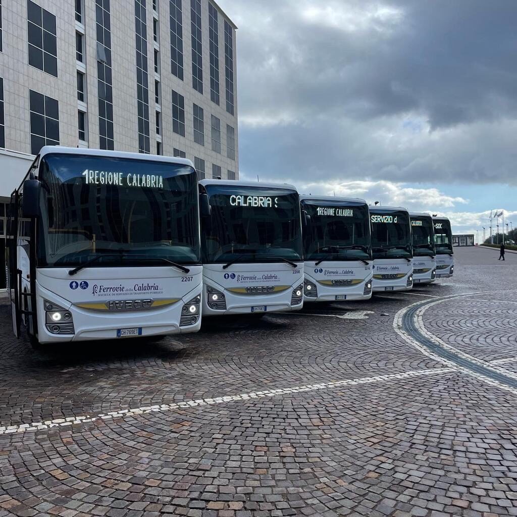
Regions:
M 318 391 L 323 389 L 332 389 L 346 386 L 360 386 L 363 384 L 383 383 L 389 381 L 401 381 L 412 377 L 421 377 L 426 375 L 441 375 L 457 371 L 457 368 L 433 368 L 429 370 L 413 370 L 404 373 L 392 373 L 387 375 L 376 375 L 374 377 L 360 377 L 357 379 L 342 379 L 341 381 L 332 381 L 328 383 L 309 384 L 307 386 L 295 386 L 292 388 L 269 389 L 264 391 L 253 391 L 251 393 L 240 393 L 238 395 L 228 395 L 225 397 L 217 397 L 214 399 L 197 399 L 176 404 L 159 404 L 154 406 L 135 407 L 129 409 L 120 409 L 118 411 L 110 411 L 101 413 L 96 416 L 70 416 L 56 418 L 54 420 L 46 420 L 43 422 L 31 422 L 20 425 L 0 426 L 0 434 L 24 433 L 27 431 L 43 431 L 47 429 L 67 427 L 73 424 L 82 424 L 86 422 L 94 422 L 96 420 L 112 420 L 114 418 L 134 417 L 138 415 L 146 415 L 149 413 L 165 413 L 174 411 L 175 409 L 185 409 L 189 407 L 208 406 L 214 404 L 225 404 L 227 402 L 240 402 L 253 399 L 262 399 L 266 397 L 277 397 L 281 395 L 289 395 L 292 393 L 302 393 L 308 391 Z

